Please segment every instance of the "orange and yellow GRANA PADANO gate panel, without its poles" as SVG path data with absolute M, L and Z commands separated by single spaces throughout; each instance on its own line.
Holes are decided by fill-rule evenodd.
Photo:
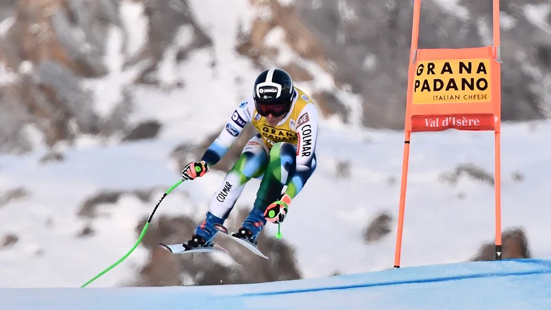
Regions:
M 499 65 L 491 46 L 417 50 L 410 66 L 413 94 L 406 131 L 495 130 L 501 108 Z

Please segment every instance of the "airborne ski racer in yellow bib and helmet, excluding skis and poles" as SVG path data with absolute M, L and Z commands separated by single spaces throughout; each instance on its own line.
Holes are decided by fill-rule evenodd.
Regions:
M 256 245 L 267 221 L 283 222 L 291 200 L 315 170 L 318 111 L 309 96 L 293 85 L 287 72 L 272 68 L 258 75 L 253 96 L 242 101 L 231 114 L 201 160 L 185 166 L 183 178 L 193 180 L 209 172 L 209 167 L 218 163 L 247 123 L 258 134 L 248 141 L 213 194 L 205 220 L 196 227 L 191 240 L 183 244 L 186 249 L 214 245 L 217 232 L 214 225 L 224 224 L 245 184 L 251 178 L 262 177 L 253 208 L 234 235 Z M 283 192 L 285 185 L 287 189 Z

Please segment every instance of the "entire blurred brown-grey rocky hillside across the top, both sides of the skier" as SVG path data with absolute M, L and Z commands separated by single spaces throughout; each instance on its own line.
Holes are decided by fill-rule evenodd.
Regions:
M 236 33 L 236 52 L 258 70 L 269 65 L 289 70 L 310 87 L 324 116 L 402 128 L 412 4 L 289 2 L 250 0 L 256 14 L 243 21 L 248 29 Z M 551 13 L 545 2 L 501 1 L 505 120 L 541 118 L 551 105 Z M 423 2 L 420 47 L 491 43 L 491 1 L 458 5 L 450 10 L 449 3 Z M 208 52 L 214 43 L 208 21 L 198 20 L 186 0 L 3 0 L 0 8 L 2 152 L 26 152 L 37 139 L 45 145 L 70 142 L 81 134 L 134 139 L 153 131 L 149 136 L 154 136 L 158 125 L 149 123 L 128 137 L 139 126 L 127 121 L 132 86 L 185 87 L 177 79 L 160 81 L 160 61 L 174 52 L 177 62 L 185 62 L 189 52 Z M 136 29 L 134 21 L 144 17 L 145 29 Z M 132 41 L 139 31 L 145 32 L 142 44 Z M 193 39 L 178 41 L 182 31 Z M 123 68 L 104 59 L 112 32 L 123 40 Z M 108 90 L 112 102 L 97 102 L 98 87 L 90 84 L 115 71 L 124 72 L 120 89 Z M 334 83 L 313 83 L 324 74 Z M 106 86 L 99 89 L 107 91 Z M 358 109 L 349 102 L 353 95 Z

